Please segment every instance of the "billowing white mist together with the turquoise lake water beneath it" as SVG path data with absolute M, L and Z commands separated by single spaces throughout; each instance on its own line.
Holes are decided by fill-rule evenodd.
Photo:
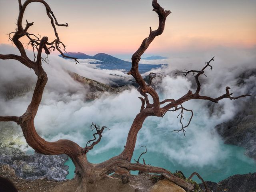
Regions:
M 0 45 L 0 52 L 15 53 L 15 48 Z M 246 78 L 242 86 L 238 86 L 237 82 L 241 72 L 255 67 L 253 51 L 243 50 L 239 55 L 234 53 L 236 50 L 216 50 L 213 70 L 205 71 L 208 78 L 202 76 L 202 95 L 220 96 L 225 93 L 225 87 L 230 86 L 230 92 L 234 96 L 248 92 L 255 96 L 255 76 Z M 32 56 L 30 52 L 29 54 Z M 166 60 L 168 67 L 155 70 L 157 74 L 161 74 L 161 78 L 154 79 L 160 99 L 177 99 L 188 90 L 194 90 L 192 76 L 185 79 L 172 71 L 202 68 L 210 58 L 212 56 L 209 54 L 193 54 Z M 88 160 L 98 163 L 122 152 L 132 121 L 140 110 L 140 94 L 134 88 L 118 95 L 105 94 L 99 99 L 88 101 L 85 100 L 88 87 L 74 81 L 68 71 L 106 84 L 111 84 L 118 78 L 109 74 L 122 75 L 127 79 L 130 76 L 120 70 L 100 70 L 97 64 L 88 64 L 88 60 L 80 60 L 80 64 L 75 65 L 72 60 L 54 55 L 48 56 L 48 59 L 50 63 L 43 64 L 48 74 L 48 83 L 35 118 L 38 134 L 49 141 L 70 139 L 85 146 L 92 139 L 94 132 L 90 130 L 90 125 L 94 122 L 107 126 L 110 131 L 104 130 L 101 142 L 88 153 Z M 33 87 L 36 75 L 26 66 L 12 60 L 0 60 L 0 67 L 4 69 L 0 71 L 0 115 L 20 116 L 30 103 L 33 89 L 11 99 L 6 99 L 6 91 L 17 84 L 24 85 L 28 82 Z M 138 134 L 133 158 L 137 159 L 144 151 L 140 146 L 146 145 L 148 152 L 142 156 L 146 163 L 167 168 L 171 172 L 181 170 L 186 176 L 194 171 L 199 172 L 205 180 L 215 182 L 233 174 L 255 172 L 256 163 L 244 156 L 244 149 L 225 145 L 214 130 L 217 124 L 230 120 L 244 100 L 245 98 L 232 101 L 224 99 L 213 105 L 201 100 L 184 103 L 185 108 L 193 109 L 194 112 L 192 122 L 186 129 L 186 137 L 182 132 L 172 132 L 181 128 L 177 119 L 179 112 L 168 112 L 163 118 L 148 117 Z M 189 118 L 188 112 L 184 116 L 184 124 Z M 71 166 L 68 178 L 72 178 L 72 162 L 67 164 Z

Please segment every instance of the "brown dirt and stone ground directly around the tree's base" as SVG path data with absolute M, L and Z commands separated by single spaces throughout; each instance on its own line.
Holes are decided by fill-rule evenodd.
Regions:
M 74 192 L 76 180 L 54 181 L 48 179 L 27 180 L 16 176 L 8 165 L 0 165 L 0 176 L 10 179 L 19 192 Z M 122 184 L 118 175 L 107 176 L 100 182 L 90 184 L 88 192 L 185 192 L 168 180 L 158 180 L 151 174 L 131 176 L 130 183 Z

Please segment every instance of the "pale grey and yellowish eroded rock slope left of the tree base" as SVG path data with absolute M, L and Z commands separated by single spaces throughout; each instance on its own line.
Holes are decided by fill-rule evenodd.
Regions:
M 68 166 L 64 166 L 64 162 L 68 160 L 68 156 L 25 154 L 28 145 L 17 127 L 17 125 L 9 122 L 1 122 L 0 164 L 10 165 L 14 168 L 16 175 L 24 179 L 65 180 L 66 175 L 68 175 Z

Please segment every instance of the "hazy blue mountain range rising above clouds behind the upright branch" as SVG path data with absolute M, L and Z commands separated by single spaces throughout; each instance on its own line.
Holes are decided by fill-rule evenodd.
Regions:
M 89 59 L 99 60 L 100 62 L 97 62 L 97 63 L 100 64 L 100 66 L 98 66 L 98 67 L 101 69 L 110 69 L 110 70 L 124 69 L 126 71 L 129 71 L 132 66 L 132 63 L 129 61 L 124 61 L 122 59 L 118 59 L 116 57 L 113 57 L 113 56 L 105 54 L 105 53 L 98 53 L 94 56 L 89 56 L 89 55 L 86 55 L 86 54 L 80 53 L 80 52 L 78 52 L 78 53 L 67 52 L 67 53 L 65 53 L 65 55 L 71 56 L 71 57 L 76 57 L 78 59 L 88 59 L 89 58 Z M 59 55 L 59 56 L 61 56 L 61 55 Z M 140 73 L 145 73 L 145 72 L 152 70 L 153 68 L 159 68 L 162 65 L 163 64 L 158 64 L 158 65 L 140 64 L 139 71 L 140 71 Z

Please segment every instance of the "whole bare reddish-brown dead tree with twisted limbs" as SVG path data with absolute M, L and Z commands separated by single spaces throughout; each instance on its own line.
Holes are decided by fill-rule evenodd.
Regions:
M 52 42 L 49 42 L 46 36 L 41 38 L 34 34 L 30 34 L 28 32 L 28 29 L 33 25 L 33 22 L 30 23 L 26 20 L 26 26 L 24 28 L 22 26 L 24 11 L 28 6 L 28 4 L 32 2 L 40 2 L 45 6 L 46 14 L 50 18 L 50 22 L 56 37 L 55 40 L 53 40 Z M 59 24 L 50 6 L 48 6 L 48 4 L 44 0 L 26 0 L 23 4 L 21 0 L 18 0 L 18 4 L 19 4 L 20 12 L 17 20 L 17 29 L 16 29 L 16 32 L 10 33 L 9 37 L 10 37 L 10 40 L 12 40 L 14 45 L 20 51 L 20 56 L 14 55 L 14 54 L 0 54 L 0 59 L 18 60 L 20 63 L 24 64 L 26 67 L 34 70 L 37 76 L 37 82 L 36 82 L 36 86 L 34 89 L 31 102 L 26 112 L 22 116 L 0 116 L 0 121 L 10 121 L 10 122 L 16 122 L 17 124 L 19 124 L 20 127 L 22 128 L 22 132 L 24 134 L 26 142 L 38 153 L 47 154 L 47 155 L 67 154 L 72 159 L 74 165 L 76 166 L 76 178 L 80 181 L 80 185 L 76 190 L 77 192 L 86 191 L 86 188 L 87 188 L 86 186 L 88 182 L 90 183 L 96 182 L 97 180 L 100 180 L 101 178 L 103 178 L 104 176 L 112 172 L 117 172 L 119 174 L 127 176 L 130 170 L 139 170 L 141 172 L 161 174 L 168 180 L 184 188 L 184 190 L 186 191 L 193 190 L 194 184 L 186 182 L 184 179 L 174 176 L 171 172 L 169 172 L 168 170 L 165 170 L 164 168 L 154 167 L 154 166 L 140 164 L 140 163 L 131 163 L 132 155 L 133 155 L 135 144 L 136 144 L 137 134 L 142 128 L 142 124 L 144 120 L 148 116 L 162 117 L 168 111 L 177 111 L 177 110 L 181 110 L 180 116 L 182 116 L 184 110 L 186 110 L 182 106 L 182 103 L 192 99 L 209 100 L 209 101 L 218 103 L 219 100 L 224 98 L 229 98 L 232 100 L 240 97 L 245 97 L 248 95 L 232 97 L 231 96 L 232 93 L 229 93 L 229 89 L 230 89 L 229 87 L 226 88 L 226 93 L 224 93 L 223 95 L 217 98 L 200 95 L 201 85 L 200 85 L 199 77 L 204 74 L 204 70 L 206 68 L 209 68 L 209 67 L 211 68 L 210 62 L 213 61 L 213 58 L 212 58 L 209 62 L 206 62 L 206 65 L 202 68 L 202 70 L 190 70 L 190 71 L 184 72 L 185 76 L 189 73 L 193 73 L 195 76 L 197 89 L 194 93 L 191 90 L 188 90 L 188 92 L 184 96 L 182 96 L 177 100 L 174 100 L 174 99 L 166 99 L 163 101 L 159 100 L 159 96 L 157 92 L 154 90 L 154 88 L 150 86 L 151 80 L 152 78 L 154 78 L 154 76 L 152 77 L 150 76 L 151 78 L 150 83 L 146 84 L 146 82 L 143 80 L 142 76 L 138 71 L 138 63 L 140 61 L 140 57 L 148 48 L 150 43 L 154 40 L 154 38 L 156 36 L 161 35 L 162 32 L 164 31 L 165 20 L 171 12 L 168 10 L 164 10 L 158 4 L 157 0 L 152 1 L 153 11 L 156 12 L 159 17 L 158 29 L 152 31 L 150 27 L 149 36 L 142 41 L 141 46 L 132 56 L 132 68 L 128 72 L 128 74 L 132 75 L 136 80 L 136 82 L 139 84 L 138 91 L 142 95 L 142 97 L 140 97 L 140 100 L 142 101 L 140 112 L 136 115 L 131 125 L 124 150 L 119 155 L 114 156 L 109 160 L 106 160 L 99 164 L 92 164 L 88 162 L 86 154 L 89 150 L 91 150 L 94 147 L 94 145 L 100 142 L 100 138 L 102 136 L 101 134 L 105 127 L 102 127 L 101 129 L 98 127 L 96 129 L 97 131 L 96 134 L 99 135 L 99 139 L 94 141 L 92 144 L 90 144 L 90 146 L 85 146 L 85 147 L 81 147 L 75 142 L 70 140 L 58 140 L 56 142 L 48 142 L 43 138 L 41 138 L 36 132 L 36 129 L 34 126 L 34 118 L 38 111 L 38 107 L 40 105 L 42 95 L 44 92 L 44 87 L 48 80 L 47 74 L 42 67 L 42 61 L 44 61 L 44 58 L 42 58 L 42 52 L 44 50 L 46 54 L 50 54 L 51 50 L 58 50 L 63 57 L 68 57 L 63 54 L 63 51 L 65 51 L 65 45 L 60 41 L 60 38 L 58 37 L 58 33 L 56 30 L 56 26 L 68 26 L 68 24 L 67 23 Z M 29 44 L 32 46 L 34 50 L 34 60 L 30 60 L 28 58 L 26 51 L 24 49 L 24 46 L 22 42 L 20 42 L 20 38 L 24 36 L 28 38 Z M 71 57 L 68 57 L 68 58 L 71 58 Z M 72 58 L 72 59 L 74 59 L 77 62 L 76 58 Z M 148 95 L 153 98 L 153 103 L 150 103 L 150 101 L 148 100 Z M 190 111 L 192 112 L 192 110 Z M 185 131 L 184 128 L 186 128 L 187 126 L 188 125 L 186 126 L 182 125 L 182 128 L 177 131 L 184 132 Z

